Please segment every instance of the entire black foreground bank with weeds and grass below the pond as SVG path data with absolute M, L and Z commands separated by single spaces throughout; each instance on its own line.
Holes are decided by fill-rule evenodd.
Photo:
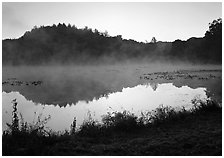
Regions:
M 222 155 L 222 110 L 214 101 L 194 101 L 191 110 L 160 106 L 141 117 L 108 113 L 79 130 L 46 131 L 49 118 L 25 123 L 13 102 L 13 120 L 2 136 L 3 155 Z

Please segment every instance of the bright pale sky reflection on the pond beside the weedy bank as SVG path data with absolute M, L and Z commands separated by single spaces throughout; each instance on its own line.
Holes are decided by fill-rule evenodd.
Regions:
M 80 100 L 64 107 L 34 103 L 19 92 L 3 92 L 2 98 L 3 130 L 6 129 L 6 122 L 11 122 L 11 101 L 16 98 L 18 111 L 25 121 L 35 122 L 38 114 L 41 113 L 43 117 L 51 115 L 47 126 L 55 131 L 63 131 L 69 129 L 74 117 L 77 119 L 77 125 L 81 125 L 85 119 L 88 119 L 88 113 L 91 113 L 92 117 L 98 121 L 108 111 L 128 110 L 138 116 L 142 111 L 151 111 L 160 104 L 190 108 L 192 99 L 205 100 L 207 95 L 206 88 L 192 89 L 188 86 L 178 88 L 172 83 L 151 83 L 123 88 L 121 92 L 110 93 L 88 102 Z

